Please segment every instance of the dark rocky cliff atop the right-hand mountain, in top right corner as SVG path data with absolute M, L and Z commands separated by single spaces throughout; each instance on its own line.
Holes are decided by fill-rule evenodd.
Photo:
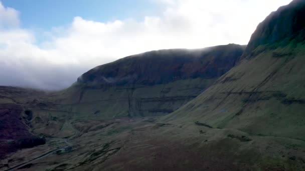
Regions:
M 276 46 L 284 46 L 292 40 L 305 40 L 305 0 L 293 0 L 289 5 L 281 6 L 261 22 L 247 45 L 244 57 L 256 47 L 277 42 Z

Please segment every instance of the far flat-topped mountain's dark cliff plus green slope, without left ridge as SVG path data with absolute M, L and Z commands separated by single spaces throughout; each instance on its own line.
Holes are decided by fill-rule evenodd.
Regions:
M 173 112 L 231 69 L 244 46 L 169 49 L 128 56 L 97 66 L 57 94 L 55 103 L 78 115 L 100 118 Z

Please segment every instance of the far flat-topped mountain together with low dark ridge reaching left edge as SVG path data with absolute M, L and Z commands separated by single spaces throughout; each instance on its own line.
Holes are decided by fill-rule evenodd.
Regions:
M 244 48 L 228 44 L 127 56 L 89 70 L 59 92 L 1 86 L 0 139 L 77 136 L 108 125 L 104 119 L 171 113 L 230 70 Z

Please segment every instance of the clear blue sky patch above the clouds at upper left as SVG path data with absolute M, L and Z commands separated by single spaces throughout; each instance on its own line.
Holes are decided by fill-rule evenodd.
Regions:
M 153 0 L 2 0 L 4 6 L 20 12 L 23 27 L 50 29 L 69 24 L 82 16 L 100 22 L 114 19 L 141 19 L 156 13 Z

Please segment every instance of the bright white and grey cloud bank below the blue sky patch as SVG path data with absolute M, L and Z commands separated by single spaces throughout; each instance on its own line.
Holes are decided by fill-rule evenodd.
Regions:
M 37 45 L 18 11 L 0 3 L 0 84 L 69 86 L 86 70 L 126 55 L 162 48 L 246 44 L 256 25 L 291 0 L 155 0 L 163 12 L 97 22 L 74 17 Z M 60 32 L 58 34 L 58 32 Z

